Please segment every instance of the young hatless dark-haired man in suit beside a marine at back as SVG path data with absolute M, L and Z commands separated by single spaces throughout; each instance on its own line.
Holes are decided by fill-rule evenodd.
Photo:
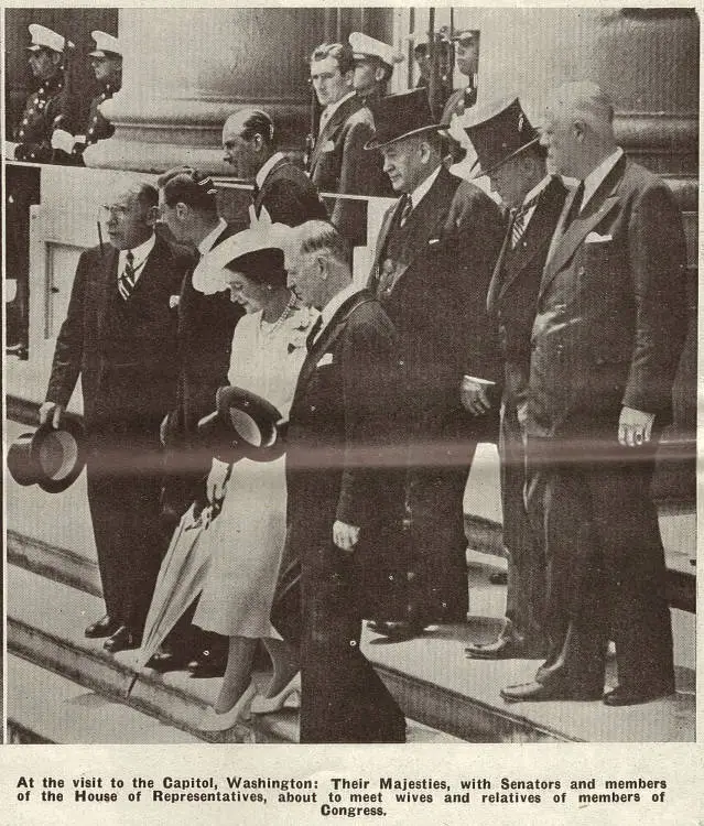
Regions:
M 318 192 L 379 195 L 386 189 L 381 165 L 364 151 L 373 134 L 373 117 L 356 94 L 351 46 L 323 43 L 311 55 L 311 81 L 323 107 L 313 151 L 311 181 Z M 367 240 L 367 209 L 362 202 L 338 198 L 331 220 L 353 246 Z

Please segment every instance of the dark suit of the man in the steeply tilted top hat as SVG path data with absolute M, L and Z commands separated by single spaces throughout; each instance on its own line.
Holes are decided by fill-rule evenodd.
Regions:
M 511 246 L 512 222 L 509 224 L 487 296 L 487 311 L 497 320 L 505 361 L 499 458 L 508 591 L 507 623 L 502 635 L 537 648 L 543 642 L 545 565 L 542 537 L 531 530 L 526 512 L 523 416 L 528 404 L 530 337 L 538 290 L 566 192 L 562 182 L 553 177 L 540 193 L 516 247 Z

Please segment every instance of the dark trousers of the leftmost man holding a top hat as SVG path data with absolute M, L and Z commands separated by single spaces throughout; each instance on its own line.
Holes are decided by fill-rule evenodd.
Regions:
M 167 539 L 159 522 L 161 478 L 154 472 L 110 472 L 88 461 L 88 504 L 107 613 L 141 633 Z

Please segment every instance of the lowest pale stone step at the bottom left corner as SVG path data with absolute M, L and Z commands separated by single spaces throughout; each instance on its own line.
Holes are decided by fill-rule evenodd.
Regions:
M 8 656 L 8 741 L 197 743 L 199 739 L 28 660 Z

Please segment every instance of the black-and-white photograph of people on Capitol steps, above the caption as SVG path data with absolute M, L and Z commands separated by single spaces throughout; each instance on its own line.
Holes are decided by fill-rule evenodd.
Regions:
M 3 31 L 7 748 L 694 743 L 697 10 Z

